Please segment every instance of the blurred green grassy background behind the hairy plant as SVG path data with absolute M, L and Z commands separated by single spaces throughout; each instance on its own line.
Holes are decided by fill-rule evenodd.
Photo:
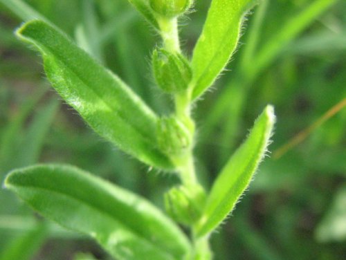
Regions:
M 181 19 L 188 56 L 210 4 L 196 2 L 195 11 Z M 15 167 L 68 163 L 162 207 L 163 192 L 176 178 L 102 140 L 49 87 L 42 59 L 13 35 L 33 17 L 64 30 L 155 111 L 172 110 L 150 70 L 158 34 L 126 0 L 0 0 L 1 183 Z M 203 185 L 210 187 L 268 103 L 275 106 L 277 124 L 271 157 L 212 236 L 215 259 L 346 259 L 346 2 L 262 0 L 245 25 L 228 70 L 194 108 Z M 282 156 L 275 152 L 338 103 L 338 112 L 300 144 Z M 93 241 L 43 220 L 1 189 L 4 259 L 109 257 Z

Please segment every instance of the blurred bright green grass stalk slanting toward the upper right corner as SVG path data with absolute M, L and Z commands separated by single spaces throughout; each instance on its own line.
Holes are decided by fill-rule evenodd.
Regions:
M 219 122 L 222 122 L 223 133 L 219 133 L 222 140 L 221 142 L 230 144 L 228 149 L 225 149 L 226 152 L 233 148 L 235 136 L 239 131 L 237 127 L 241 124 L 241 118 L 244 114 L 244 106 L 246 98 L 248 98 L 247 94 L 251 87 L 255 86 L 253 83 L 259 77 L 260 73 L 268 69 L 268 66 L 273 64 L 275 59 L 286 50 L 287 46 L 289 46 L 303 30 L 311 26 L 313 21 L 316 21 L 323 12 L 327 11 L 327 9 L 336 2 L 337 0 L 312 1 L 306 8 L 298 12 L 297 15 L 285 21 L 280 30 L 273 34 L 273 37 L 264 41 L 264 46 L 256 48 L 257 52 L 251 50 L 251 48 L 255 48 L 255 46 L 253 46 L 253 39 L 250 41 L 250 46 L 247 44 L 244 46 L 242 50 L 245 51 L 245 54 L 242 57 L 243 63 L 241 64 L 242 67 L 239 68 L 238 77 L 232 78 L 230 82 L 227 83 L 227 86 L 218 95 L 217 102 L 212 106 L 211 111 L 206 117 L 208 131 L 212 131 Z M 268 8 L 271 8 L 271 6 Z M 262 15 L 261 12 L 265 11 L 263 6 L 260 7 L 259 11 L 260 13 L 257 13 L 255 17 L 257 23 L 262 22 L 261 19 L 257 18 L 260 18 Z M 255 38 L 258 36 L 254 31 L 257 27 L 260 27 L 260 24 L 253 24 L 250 28 L 251 35 L 255 35 Z M 262 41 L 262 39 L 258 40 Z M 249 58 L 251 59 L 250 61 Z M 230 100 L 233 100 L 233 102 L 229 102 Z M 232 116 L 230 116 L 230 111 L 232 111 Z M 209 134 L 210 133 L 206 133 L 206 136 L 209 136 Z M 231 138 L 233 138 L 233 140 L 231 140 Z M 226 155 L 222 154 L 220 158 L 221 161 L 223 161 Z

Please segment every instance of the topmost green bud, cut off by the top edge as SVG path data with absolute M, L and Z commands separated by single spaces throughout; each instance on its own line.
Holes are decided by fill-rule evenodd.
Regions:
M 163 17 L 182 15 L 192 5 L 192 0 L 149 0 L 152 9 Z

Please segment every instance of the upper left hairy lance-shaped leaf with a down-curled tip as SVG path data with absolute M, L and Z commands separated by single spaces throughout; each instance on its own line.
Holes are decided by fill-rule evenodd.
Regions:
M 119 77 L 43 21 L 29 21 L 17 35 L 39 49 L 48 80 L 100 136 L 144 163 L 172 168 L 157 149 L 156 114 Z

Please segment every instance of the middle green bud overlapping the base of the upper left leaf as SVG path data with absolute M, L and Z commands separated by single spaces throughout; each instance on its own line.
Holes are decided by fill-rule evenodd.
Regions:
M 181 155 L 192 145 L 188 126 L 174 117 L 160 118 L 156 127 L 158 146 L 169 155 Z

